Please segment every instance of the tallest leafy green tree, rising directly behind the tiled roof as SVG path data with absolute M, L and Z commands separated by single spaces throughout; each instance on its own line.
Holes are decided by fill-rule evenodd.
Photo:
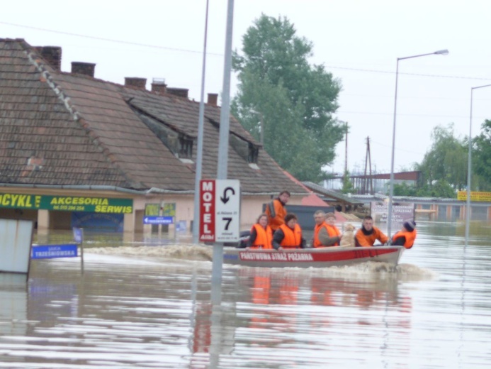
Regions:
M 310 65 L 311 55 L 312 44 L 288 19 L 261 15 L 233 55 L 239 85 L 231 109 L 256 138 L 263 119 L 269 155 L 299 180 L 319 182 L 344 128 L 332 117 L 341 85 L 322 65 Z

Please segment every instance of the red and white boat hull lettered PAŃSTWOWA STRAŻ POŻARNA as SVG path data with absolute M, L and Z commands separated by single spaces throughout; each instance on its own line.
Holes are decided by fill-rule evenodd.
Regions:
M 376 261 L 397 265 L 402 246 L 376 246 L 352 248 L 306 248 L 295 250 L 225 250 L 223 263 L 264 268 L 326 268 Z

